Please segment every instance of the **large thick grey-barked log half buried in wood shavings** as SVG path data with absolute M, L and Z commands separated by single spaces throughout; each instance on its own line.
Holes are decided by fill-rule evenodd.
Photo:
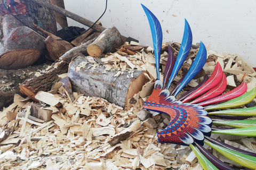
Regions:
M 81 54 L 70 62 L 68 77 L 74 91 L 125 107 L 127 100 L 142 89 L 147 77 L 143 71 L 137 70 L 134 70 L 132 78 L 129 72 L 118 76 L 117 73 L 118 71 L 105 71 L 105 67 L 101 66 L 94 68 Z

